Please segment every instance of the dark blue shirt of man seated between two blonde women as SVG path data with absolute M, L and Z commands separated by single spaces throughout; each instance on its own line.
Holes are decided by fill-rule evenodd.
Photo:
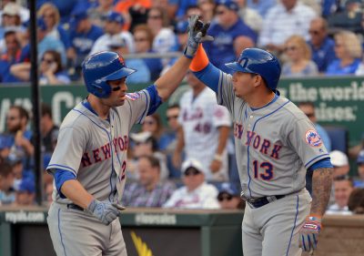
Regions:
M 315 48 L 310 41 L 308 45 L 311 47 L 312 60 L 318 66 L 319 72 L 324 73 L 328 69 L 329 64 L 336 59 L 334 40 L 327 37 L 319 48 Z

